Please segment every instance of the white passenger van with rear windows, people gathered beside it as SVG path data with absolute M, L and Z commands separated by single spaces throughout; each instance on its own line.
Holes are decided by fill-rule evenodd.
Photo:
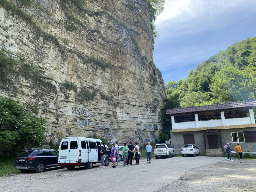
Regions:
M 84 166 L 92 169 L 93 164 L 101 162 L 100 147 L 105 145 L 99 139 L 86 137 L 62 138 L 59 146 L 58 163 L 67 166 L 67 169 L 74 169 L 75 166 Z M 109 153 L 106 152 L 105 166 L 108 166 Z

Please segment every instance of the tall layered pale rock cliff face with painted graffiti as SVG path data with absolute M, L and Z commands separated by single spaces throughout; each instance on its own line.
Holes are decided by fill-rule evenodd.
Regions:
M 48 142 L 92 133 L 141 144 L 157 139 L 164 82 L 144 0 L 0 3 L 2 45 L 44 73 L 38 80 L 21 71 L 0 94 L 46 117 Z

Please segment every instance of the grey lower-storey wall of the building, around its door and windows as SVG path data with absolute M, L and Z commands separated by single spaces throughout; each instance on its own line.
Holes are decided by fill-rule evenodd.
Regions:
M 207 135 L 209 135 L 209 134 L 217 134 L 218 135 L 219 148 L 223 148 L 226 145 L 226 143 L 228 142 L 230 144 L 230 147 L 233 149 L 237 146 L 237 144 L 232 142 L 231 132 L 244 132 L 244 131 L 255 131 L 255 130 L 256 130 L 255 128 L 221 130 L 222 146 L 220 146 L 220 138 L 219 138 L 218 132 L 205 133 L 206 148 L 209 148 L 208 138 L 207 138 Z M 181 148 L 184 145 L 183 134 L 194 134 L 196 147 L 199 148 L 200 153 L 204 153 L 204 137 L 203 137 L 202 131 L 191 131 L 191 132 L 172 132 L 171 131 L 171 143 L 172 143 L 172 145 L 174 145 L 174 150 L 175 150 L 176 154 L 181 153 Z M 247 142 L 247 143 L 240 142 L 240 146 L 242 148 L 242 151 L 256 152 L 256 142 Z

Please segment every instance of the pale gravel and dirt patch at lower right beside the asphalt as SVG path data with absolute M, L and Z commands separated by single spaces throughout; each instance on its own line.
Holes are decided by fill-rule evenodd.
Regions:
M 256 160 L 243 162 L 223 160 L 191 169 L 157 192 L 256 191 Z

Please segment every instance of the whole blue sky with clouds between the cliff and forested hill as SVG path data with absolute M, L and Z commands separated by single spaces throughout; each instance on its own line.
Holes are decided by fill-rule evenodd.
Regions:
M 256 36 L 256 0 L 165 0 L 157 16 L 154 63 L 178 81 L 229 45 Z

